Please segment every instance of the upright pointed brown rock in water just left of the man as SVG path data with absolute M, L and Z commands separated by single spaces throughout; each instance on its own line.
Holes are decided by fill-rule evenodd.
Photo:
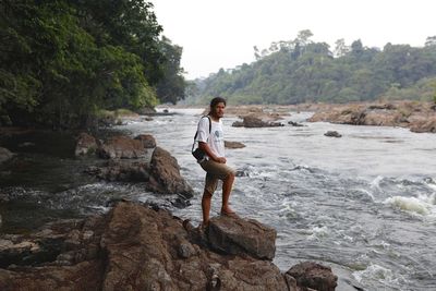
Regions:
M 150 187 L 158 193 L 182 194 L 186 198 L 194 191 L 180 174 L 180 166 L 174 157 L 161 147 L 156 147 L 150 161 Z

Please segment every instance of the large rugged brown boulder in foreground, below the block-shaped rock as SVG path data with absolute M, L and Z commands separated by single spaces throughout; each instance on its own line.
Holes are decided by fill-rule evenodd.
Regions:
M 199 247 L 190 242 L 183 221 L 167 211 L 122 203 L 110 217 L 106 290 L 287 290 L 270 262 Z

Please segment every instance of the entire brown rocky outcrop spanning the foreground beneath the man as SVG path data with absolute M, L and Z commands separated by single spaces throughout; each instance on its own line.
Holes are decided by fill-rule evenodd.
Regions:
M 230 218 L 218 217 L 213 223 L 220 225 L 227 235 L 244 235 L 244 229 L 222 222 L 225 219 Z M 255 229 L 257 235 L 264 235 L 263 227 Z M 238 233 L 232 234 L 234 231 Z M 210 235 L 166 210 L 119 203 L 106 215 L 50 225 L 35 234 L 15 235 L 13 242 L 2 234 L 0 239 L 11 244 L 27 242 L 39 250 L 50 250 L 41 243 L 48 238 L 56 238 L 57 244 L 51 256 L 24 262 L 34 252 L 29 248 L 21 253 L 22 260 L 20 254 L 14 262 L 2 260 L 0 290 L 299 291 L 315 288 L 314 282 L 318 287 L 334 284 L 336 277 L 322 266 L 304 265 L 281 274 L 271 262 L 249 253 L 217 253 L 209 246 Z M 0 255 L 4 251 L 0 250 Z

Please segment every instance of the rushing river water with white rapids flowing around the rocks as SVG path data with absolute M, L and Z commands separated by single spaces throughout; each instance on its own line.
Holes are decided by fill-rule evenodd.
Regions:
M 86 160 L 58 158 L 52 167 L 63 174 L 56 189 L 32 171 L 20 175 L 20 185 L 16 180 L 15 185 L 1 184 L 8 209 L 25 216 L 28 209 L 38 213 L 40 205 L 44 215 L 34 216 L 69 217 L 77 209 L 106 211 L 109 198 L 126 197 L 166 204 L 175 216 L 197 225 L 204 171 L 190 150 L 202 110 L 170 111 L 175 114 L 132 121 L 116 130 L 132 136 L 153 134 L 178 159 L 196 193 L 191 206 L 173 207 L 168 198 L 144 192 L 141 184 L 87 181 L 80 171 Z M 277 230 L 274 263 L 283 271 L 307 259 L 330 266 L 339 276 L 339 291 L 356 290 L 353 286 L 436 290 L 436 134 L 310 123 L 310 112 L 290 113 L 281 128 L 232 128 L 239 119 L 223 119 L 226 140 L 246 146 L 227 149 L 229 166 L 239 172 L 231 207 Z M 342 137 L 327 137 L 327 131 Z M 34 157 L 28 159 L 35 162 Z M 50 162 L 44 159 L 45 165 Z M 217 191 L 213 216 L 219 213 L 220 199 Z M 0 214 L 8 209 L 0 207 Z

